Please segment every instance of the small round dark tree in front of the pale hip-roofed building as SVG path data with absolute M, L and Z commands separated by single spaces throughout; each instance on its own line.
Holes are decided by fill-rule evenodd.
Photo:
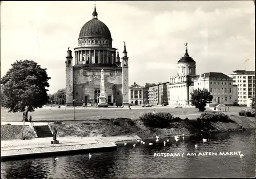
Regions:
M 198 108 L 199 111 L 204 111 L 206 104 L 210 103 L 214 98 L 206 88 L 194 89 L 193 92 L 190 93 L 190 95 L 191 105 L 196 106 L 196 108 Z

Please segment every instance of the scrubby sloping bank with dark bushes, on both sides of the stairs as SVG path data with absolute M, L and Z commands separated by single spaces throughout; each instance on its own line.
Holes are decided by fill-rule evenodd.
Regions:
M 139 119 L 111 118 L 97 121 L 56 121 L 50 124 L 58 130 L 57 137 L 115 137 L 137 135 L 142 139 L 152 136 L 201 135 L 255 128 L 255 109 L 242 111 L 239 116 L 218 111 L 205 111 L 196 120 L 181 119 L 171 113 L 145 113 Z M 254 113 L 254 117 L 252 117 Z M 248 117 L 250 116 L 250 117 Z M 22 135 L 23 131 L 23 135 Z M 23 137 L 22 137 L 23 136 Z M 30 126 L 1 125 L 1 140 L 23 140 L 36 138 Z

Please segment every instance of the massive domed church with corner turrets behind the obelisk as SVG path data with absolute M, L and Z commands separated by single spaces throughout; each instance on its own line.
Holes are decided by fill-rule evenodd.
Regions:
M 112 47 L 109 28 L 93 18 L 80 30 L 78 47 L 68 49 L 66 57 L 66 105 L 97 106 L 100 96 L 100 71 L 104 70 L 106 100 L 109 104 L 129 105 L 129 63 L 124 42 L 122 62 Z

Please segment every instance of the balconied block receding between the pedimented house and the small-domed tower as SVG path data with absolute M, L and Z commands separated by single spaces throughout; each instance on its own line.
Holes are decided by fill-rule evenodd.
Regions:
M 148 101 L 152 105 L 166 104 L 169 101 L 169 82 L 159 83 L 148 88 Z

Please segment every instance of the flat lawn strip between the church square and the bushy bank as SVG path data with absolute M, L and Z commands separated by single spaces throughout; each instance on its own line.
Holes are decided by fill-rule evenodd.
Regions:
M 157 112 L 170 112 L 173 115 L 185 115 L 184 108 L 145 108 L 145 109 L 75 109 L 76 120 L 97 120 L 100 118 L 138 118 L 147 111 L 156 110 Z M 207 109 L 210 110 L 210 109 Z M 20 122 L 23 119 L 23 113 L 7 113 L 7 109 L 1 109 L 1 122 Z M 197 108 L 186 108 L 186 114 L 200 113 Z M 74 119 L 74 110 L 69 108 L 65 110 L 60 109 L 36 109 L 29 113 L 32 116 L 32 121 L 65 121 Z

